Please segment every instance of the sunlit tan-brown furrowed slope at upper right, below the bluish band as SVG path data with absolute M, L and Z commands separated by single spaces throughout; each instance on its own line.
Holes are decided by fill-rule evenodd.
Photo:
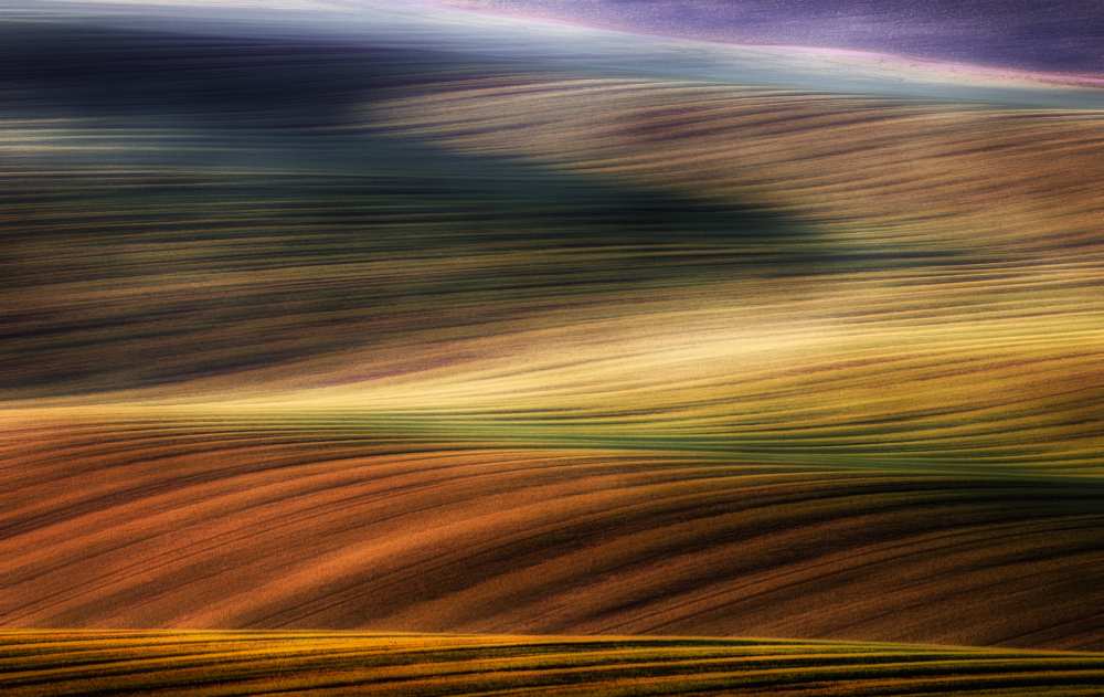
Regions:
M 1100 260 L 1104 113 L 672 81 L 453 85 L 379 108 L 464 149 L 792 210 L 839 235 Z M 1049 253 L 1049 254 L 1044 254 Z

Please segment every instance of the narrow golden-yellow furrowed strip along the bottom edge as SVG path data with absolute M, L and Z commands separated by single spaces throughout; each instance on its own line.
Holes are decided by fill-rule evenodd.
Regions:
M 2 632 L 6 695 L 1092 695 L 1101 654 L 779 640 Z

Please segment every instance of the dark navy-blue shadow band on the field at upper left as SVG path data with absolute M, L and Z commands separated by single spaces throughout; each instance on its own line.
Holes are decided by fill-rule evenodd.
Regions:
M 3 110 L 193 127 L 332 125 L 379 91 L 516 71 L 456 53 L 336 36 L 197 35 L 0 21 Z

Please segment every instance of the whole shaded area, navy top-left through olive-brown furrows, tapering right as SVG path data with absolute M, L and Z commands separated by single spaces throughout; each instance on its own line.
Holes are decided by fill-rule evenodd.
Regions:
M 36 126 L 61 149 L 13 158 L 0 193 L 8 398 L 933 258 L 839 249 L 735 202 L 335 128 L 391 88 L 514 64 L 46 24 L 0 25 L 0 65 L 9 115 L 62 119 Z

